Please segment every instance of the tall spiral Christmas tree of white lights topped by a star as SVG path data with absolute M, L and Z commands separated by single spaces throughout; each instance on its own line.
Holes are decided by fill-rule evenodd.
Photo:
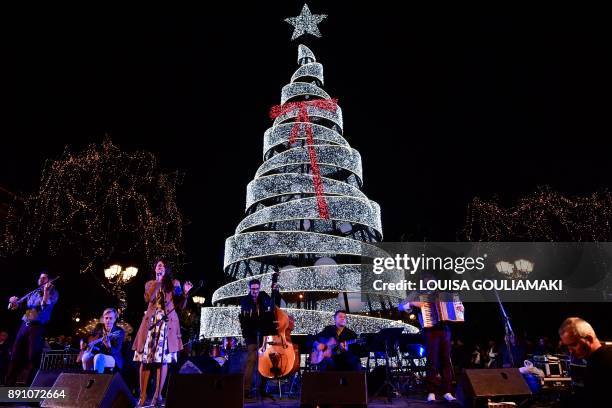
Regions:
M 286 21 L 294 38 L 320 36 L 316 26 L 325 18 L 304 6 Z M 379 205 L 361 191 L 361 156 L 343 136 L 342 109 L 323 87 L 323 66 L 305 45 L 298 64 L 281 91 L 280 105 L 264 134 L 263 163 L 247 186 L 246 217 L 225 243 L 224 270 L 233 282 L 217 289 L 215 307 L 202 309 L 201 334 L 239 336 L 238 299 L 248 281 L 261 280 L 270 291 L 273 267 L 281 269 L 279 284 L 295 318 L 294 334 L 313 334 L 346 309 L 358 333 L 384 327 L 416 328 L 371 315 L 388 315 L 401 299 L 364 293 L 362 256 L 381 255 L 372 245 L 382 240 Z

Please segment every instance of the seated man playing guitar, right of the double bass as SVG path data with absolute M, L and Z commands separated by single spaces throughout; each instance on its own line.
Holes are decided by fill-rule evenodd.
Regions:
M 351 353 L 347 342 L 357 339 L 357 334 L 346 327 L 346 311 L 334 314 L 335 324 L 326 326 L 313 344 L 313 357 L 319 354 L 320 362 L 313 361 L 321 371 L 359 371 L 361 362 Z M 314 358 L 313 358 L 314 360 Z

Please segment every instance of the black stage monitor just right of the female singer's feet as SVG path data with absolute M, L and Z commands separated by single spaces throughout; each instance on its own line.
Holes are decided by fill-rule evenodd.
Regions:
M 242 408 L 242 374 L 173 374 L 168 379 L 166 408 Z

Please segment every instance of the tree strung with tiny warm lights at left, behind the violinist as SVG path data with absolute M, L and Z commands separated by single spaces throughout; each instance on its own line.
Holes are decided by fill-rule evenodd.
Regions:
M 67 147 L 45 163 L 38 191 L 13 201 L 0 253 L 70 254 L 81 273 L 95 276 L 117 254 L 142 263 L 164 255 L 180 266 L 180 182 L 181 174 L 161 169 L 152 153 L 122 151 L 110 138 L 79 152 Z

